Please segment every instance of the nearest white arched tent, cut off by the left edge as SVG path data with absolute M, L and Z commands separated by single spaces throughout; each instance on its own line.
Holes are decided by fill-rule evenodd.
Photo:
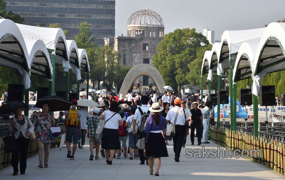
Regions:
M 9 19 L 0 19 L 0 65 L 17 69 L 23 76 L 24 87 L 31 85 L 31 61 L 19 28 Z

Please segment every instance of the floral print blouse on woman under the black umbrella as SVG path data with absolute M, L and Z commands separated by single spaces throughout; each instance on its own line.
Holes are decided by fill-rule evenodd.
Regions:
M 47 115 L 44 113 L 39 113 L 35 117 L 34 127 L 35 127 L 35 135 L 37 141 L 42 141 L 43 143 L 51 143 L 51 139 L 49 138 L 49 128 L 52 126 L 52 114 L 50 112 Z

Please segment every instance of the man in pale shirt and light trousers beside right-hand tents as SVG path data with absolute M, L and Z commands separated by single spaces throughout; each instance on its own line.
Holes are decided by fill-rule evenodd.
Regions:
M 208 133 L 209 133 L 209 128 L 210 128 L 210 107 L 211 102 L 207 101 L 205 102 L 205 107 L 202 109 L 202 116 L 203 116 L 203 138 L 202 138 L 202 143 L 203 144 L 209 144 L 208 142 Z

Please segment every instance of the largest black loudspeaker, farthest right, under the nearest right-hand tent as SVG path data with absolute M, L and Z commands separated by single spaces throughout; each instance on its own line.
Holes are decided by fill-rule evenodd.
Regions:
M 275 101 L 275 86 L 260 86 L 260 106 L 274 106 Z

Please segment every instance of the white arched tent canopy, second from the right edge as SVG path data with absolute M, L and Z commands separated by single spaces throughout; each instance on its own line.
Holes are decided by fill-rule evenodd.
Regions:
M 257 46 L 258 43 L 253 42 L 241 44 L 233 69 L 233 82 L 251 77 Z

